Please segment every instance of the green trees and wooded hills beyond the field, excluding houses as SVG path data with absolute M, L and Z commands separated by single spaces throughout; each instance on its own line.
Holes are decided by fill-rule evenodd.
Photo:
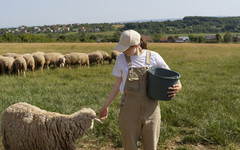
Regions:
M 117 25 L 121 25 L 117 27 Z M 68 25 L 67 25 L 68 26 Z M 39 29 L 54 29 L 58 27 L 66 27 L 66 25 L 42 26 Z M 204 36 L 196 36 L 195 34 L 225 34 L 230 37 L 231 33 L 240 33 L 240 17 L 184 17 L 182 20 L 163 21 L 163 22 L 132 22 L 132 23 L 102 23 L 102 24 L 73 24 L 69 25 L 70 32 L 73 29 L 79 29 L 78 32 L 61 32 L 61 33 L 37 33 L 33 32 L 33 27 L 24 27 L 29 33 L 12 33 L 7 32 L 9 28 L 0 29 L 0 42 L 117 42 L 120 33 L 123 30 L 134 29 L 142 35 L 150 35 L 154 42 L 159 42 L 162 35 L 165 34 L 186 34 L 191 42 L 209 42 Z M 84 27 L 84 31 L 81 31 Z M 93 30 L 98 28 L 100 31 L 93 34 Z M 111 34 L 108 34 L 111 32 Z M 101 34 L 99 34 L 101 33 Z M 224 36 L 225 36 L 224 35 Z M 232 37 L 220 37 L 216 35 L 216 42 L 235 41 Z M 214 41 L 212 41 L 214 42 Z

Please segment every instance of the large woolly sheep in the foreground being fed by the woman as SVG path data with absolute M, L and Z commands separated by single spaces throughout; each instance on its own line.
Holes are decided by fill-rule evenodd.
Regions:
M 2 143 L 6 150 L 75 150 L 94 120 L 101 122 L 90 108 L 64 115 L 19 102 L 3 112 Z

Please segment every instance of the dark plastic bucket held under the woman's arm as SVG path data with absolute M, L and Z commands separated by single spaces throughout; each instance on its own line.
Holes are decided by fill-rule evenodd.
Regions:
M 151 68 L 148 70 L 148 96 L 156 100 L 169 101 L 169 87 L 178 82 L 181 75 L 175 71 L 163 68 Z

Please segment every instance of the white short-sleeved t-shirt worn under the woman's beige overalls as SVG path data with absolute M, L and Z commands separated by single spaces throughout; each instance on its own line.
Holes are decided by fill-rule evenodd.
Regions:
M 138 68 L 138 67 L 154 67 L 154 68 L 165 68 L 169 69 L 166 62 L 163 58 L 156 52 L 151 51 L 151 61 L 150 65 L 146 64 L 146 50 L 141 55 L 133 55 L 130 56 L 132 65 L 128 66 L 125 55 L 123 53 L 117 56 L 113 72 L 112 74 L 117 77 L 122 77 L 122 83 L 120 84 L 120 91 L 123 93 L 124 85 L 127 79 L 128 69 L 131 67 Z

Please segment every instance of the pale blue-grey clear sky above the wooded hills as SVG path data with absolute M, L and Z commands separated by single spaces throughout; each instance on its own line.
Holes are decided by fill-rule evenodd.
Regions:
M 0 28 L 240 16 L 240 0 L 0 0 Z

